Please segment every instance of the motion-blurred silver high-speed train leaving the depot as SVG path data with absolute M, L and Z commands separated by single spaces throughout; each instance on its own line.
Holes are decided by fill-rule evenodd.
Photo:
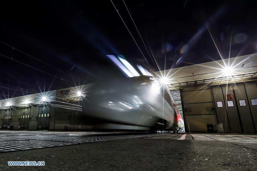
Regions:
M 141 65 L 133 66 L 124 56 L 107 57 L 119 70 L 103 69 L 103 77 L 83 98 L 82 110 L 95 123 L 93 129 L 184 129 L 166 85 Z

